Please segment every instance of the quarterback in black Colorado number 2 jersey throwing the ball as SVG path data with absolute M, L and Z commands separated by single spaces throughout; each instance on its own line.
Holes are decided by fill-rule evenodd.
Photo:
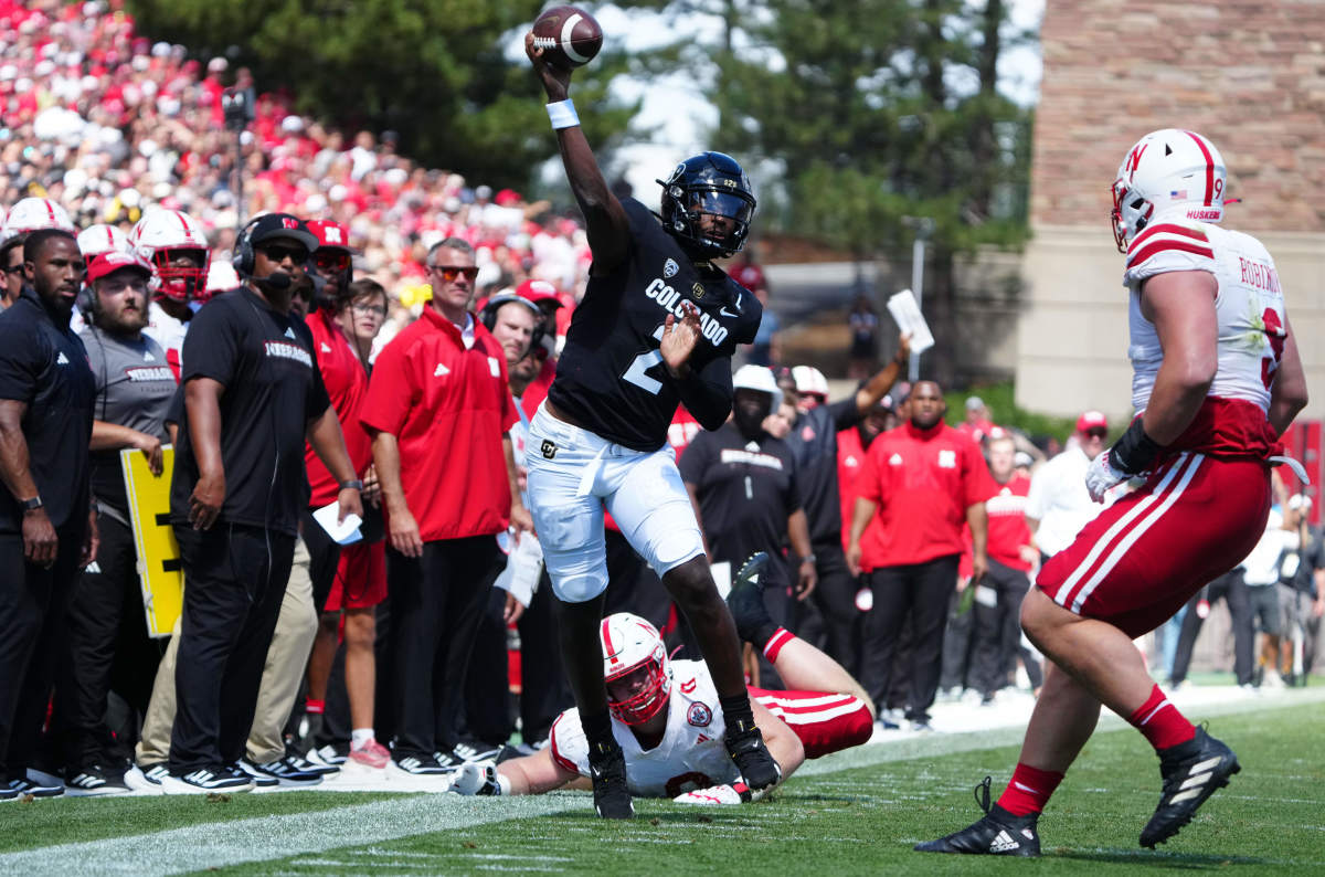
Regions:
M 731 354 L 759 327 L 758 299 L 710 261 L 745 245 L 755 207 L 750 180 L 731 158 L 704 152 L 662 183 L 661 217 L 635 199 L 617 199 L 567 98 L 570 70 L 547 64 L 533 33 L 525 50 L 547 93 L 594 253 L 526 454 L 530 510 L 558 597 L 594 804 L 608 819 L 635 812 L 596 644 L 607 590 L 604 507 L 685 612 L 713 674 L 730 758 L 751 788 L 774 786 L 778 764 L 754 721 L 737 631 L 666 444 L 678 403 L 705 429 L 726 421 Z

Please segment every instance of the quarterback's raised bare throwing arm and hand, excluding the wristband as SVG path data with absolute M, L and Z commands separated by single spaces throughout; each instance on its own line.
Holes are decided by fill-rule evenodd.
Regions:
M 549 103 L 559 103 L 570 97 L 571 72 L 543 61 L 543 50 L 534 48 L 534 32 L 525 34 L 525 54 L 534 65 L 534 73 L 543 83 Z M 584 131 L 579 125 L 556 130 L 556 143 L 562 151 L 562 164 L 566 166 L 566 179 L 571 192 L 584 213 L 588 233 L 588 246 L 594 253 L 591 273 L 611 274 L 625 261 L 631 242 L 631 227 L 625 208 L 612 195 L 598 167 L 594 150 L 590 148 Z

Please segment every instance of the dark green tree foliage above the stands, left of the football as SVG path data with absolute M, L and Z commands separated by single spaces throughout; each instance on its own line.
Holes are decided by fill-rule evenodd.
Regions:
M 511 34 L 541 0 L 130 0 L 139 29 L 196 56 L 252 68 L 258 90 L 285 87 L 301 111 L 352 130 L 400 134 L 403 152 L 492 185 L 525 185 L 556 154 L 542 90 Z M 635 114 L 606 99 L 624 61 L 576 74 L 594 143 Z

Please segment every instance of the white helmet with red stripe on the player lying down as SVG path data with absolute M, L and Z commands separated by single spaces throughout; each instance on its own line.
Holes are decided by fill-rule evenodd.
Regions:
M 640 616 L 617 612 L 603 619 L 599 639 L 603 680 L 608 685 L 607 709 L 627 725 L 643 725 L 672 697 L 672 662 L 661 635 Z M 643 676 L 643 685 L 629 697 L 613 697 L 611 684 L 633 673 Z

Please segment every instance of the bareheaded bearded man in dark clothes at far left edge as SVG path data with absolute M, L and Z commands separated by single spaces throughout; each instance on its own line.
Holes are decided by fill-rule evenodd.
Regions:
M 65 603 L 95 555 L 89 460 L 97 388 L 69 331 L 85 265 L 74 236 L 23 245 L 25 284 L 0 317 L 0 800 L 26 768 L 64 645 Z

